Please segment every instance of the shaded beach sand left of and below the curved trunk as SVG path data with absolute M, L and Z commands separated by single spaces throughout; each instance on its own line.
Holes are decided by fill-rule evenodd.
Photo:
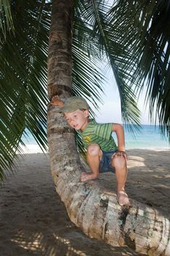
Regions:
M 9 176 L 0 189 L 3 256 L 140 255 L 127 247 L 88 238 L 70 222 L 43 154 L 28 154 L 15 176 Z

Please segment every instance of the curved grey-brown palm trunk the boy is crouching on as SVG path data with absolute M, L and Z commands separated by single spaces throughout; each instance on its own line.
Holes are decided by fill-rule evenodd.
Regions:
M 72 94 L 72 0 L 53 1 L 48 58 L 48 94 L 66 99 Z M 120 207 L 116 196 L 96 181 L 80 182 L 84 167 L 75 144 L 74 130 L 58 107 L 47 111 L 50 168 L 56 191 L 72 222 L 91 238 L 113 246 L 129 246 L 147 255 L 170 255 L 169 219 L 155 209 L 131 200 Z

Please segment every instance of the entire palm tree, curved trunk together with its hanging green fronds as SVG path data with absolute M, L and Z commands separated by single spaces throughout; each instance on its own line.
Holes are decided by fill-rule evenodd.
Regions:
M 169 75 L 166 75 L 169 74 L 169 31 L 165 30 L 166 34 L 163 29 L 159 29 L 158 34 L 154 34 L 157 29 L 153 28 L 154 26 L 157 28 L 156 15 L 158 18 L 161 15 L 164 21 L 169 19 L 166 15 L 169 5 L 166 1 L 159 1 L 158 4 L 155 1 L 150 1 L 149 4 L 147 1 L 133 1 L 133 3 L 115 1 L 109 8 L 106 1 L 53 1 L 48 56 L 49 97 L 58 94 L 62 99 L 66 99 L 71 94 L 81 94 L 89 99 L 91 97 L 95 99 L 97 88 L 101 88 L 98 85 L 101 75 L 94 67 L 101 56 L 107 56 L 119 86 L 123 118 L 126 123 L 139 123 L 139 111 L 136 108 L 131 84 L 134 83 L 137 89 L 141 89 L 144 80 L 149 78 L 150 108 L 153 108 L 154 102 L 159 103 L 157 110 L 160 124 L 169 125 L 169 90 L 166 87 L 169 80 Z M 16 10 L 23 10 L 20 4 L 13 4 L 12 7 L 15 13 Z M 50 18 L 47 11 L 50 4 L 47 1 L 36 1 L 36 3 L 27 1 L 24 7 L 30 20 L 26 28 L 22 27 L 23 34 L 18 32 L 18 26 L 15 25 L 17 21 L 17 24 L 20 23 L 17 14 L 13 18 L 15 22 L 12 23 L 14 29 L 17 28 L 14 34 L 5 30 L 5 20 L 1 25 L 5 31 L 1 48 L 2 53 L 6 53 L 6 55 L 1 54 L 1 58 L 6 64 L 6 69 L 10 68 L 11 71 L 9 80 L 4 66 L 1 72 L 1 80 L 4 82 L 3 94 L 1 93 L 4 116 L 1 124 L 4 127 L 3 146 L 6 146 L 3 154 L 9 156 L 9 153 L 13 153 L 12 157 L 15 151 L 11 148 L 14 146 L 15 150 L 18 148 L 18 142 L 26 127 L 31 129 L 40 145 L 45 146 L 43 144 L 45 108 L 42 104 L 46 101 L 46 94 L 39 84 L 45 84 L 45 76 L 43 77 L 42 74 L 45 71 L 43 64 L 47 53 L 46 32 L 49 29 Z M 25 13 L 22 13 L 21 20 L 26 17 Z M 38 20 L 37 23 L 35 22 L 36 26 L 35 24 L 31 26 L 31 19 L 34 22 Z M 12 30 L 12 25 L 9 29 Z M 42 37 L 40 31 L 43 32 Z M 21 44 L 23 41 L 18 37 L 15 38 L 17 32 L 26 37 L 26 45 Z M 151 54 L 150 46 L 148 47 L 147 44 L 150 45 L 153 38 L 155 45 L 154 50 L 151 48 Z M 12 48 L 9 45 L 12 45 Z M 25 69 L 22 69 L 20 63 L 12 56 L 16 48 L 18 48 L 16 53 L 21 53 L 19 60 Z M 144 54 L 148 52 L 149 67 L 144 62 Z M 25 72 L 22 73 L 22 70 Z M 14 83 L 10 90 L 4 86 L 7 81 L 9 85 Z M 93 83 L 96 87 L 92 86 Z M 164 110 L 163 106 L 166 106 Z M 104 239 L 109 244 L 128 245 L 137 252 L 148 255 L 169 255 L 169 219 L 135 201 L 131 202 L 130 208 L 121 208 L 117 205 L 115 195 L 101 190 L 96 182 L 80 183 L 79 177 L 83 167 L 77 154 L 74 132 L 56 110 L 57 108 L 50 107 L 47 111 L 50 165 L 57 192 L 65 203 L 72 221 L 88 236 Z M 7 131 L 5 131 L 6 127 Z M 164 127 L 163 131 L 165 131 Z M 12 139 L 9 140 L 10 137 Z M 4 162 L 1 160 L 3 166 L 8 162 L 11 163 L 12 157 L 10 155 L 9 159 L 5 158 Z

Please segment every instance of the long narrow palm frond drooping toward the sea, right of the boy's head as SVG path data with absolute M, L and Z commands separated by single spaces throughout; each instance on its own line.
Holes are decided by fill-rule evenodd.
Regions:
M 82 20 L 88 23 L 93 31 L 89 34 L 91 40 L 96 43 L 98 56 L 101 59 L 107 56 L 107 65 L 112 68 L 115 75 L 117 87 L 120 92 L 120 102 L 123 121 L 129 124 L 140 123 L 140 111 L 136 105 L 136 97 L 132 90 L 131 83 L 131 66 L 124 68 L 128 59 L 131 59 L 128 51 L 117 40 L 117 35 L 112 31 L 112 23 L 109 20 L 109 4 L 107 1 L 80 1 Z M 128 125 L 128 127 L 131 127 Z M 132 129 L 132 127 L 131 127 Z

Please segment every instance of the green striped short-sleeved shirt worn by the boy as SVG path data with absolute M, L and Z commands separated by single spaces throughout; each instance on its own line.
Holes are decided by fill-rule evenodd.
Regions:
M 85 130 L 81 132 L 85 147 L 97 143 L 102 151 L 117 150 L 115 140 L 112 138 L 112 124 L 98 124 L 95 120 L 90 121 Z

